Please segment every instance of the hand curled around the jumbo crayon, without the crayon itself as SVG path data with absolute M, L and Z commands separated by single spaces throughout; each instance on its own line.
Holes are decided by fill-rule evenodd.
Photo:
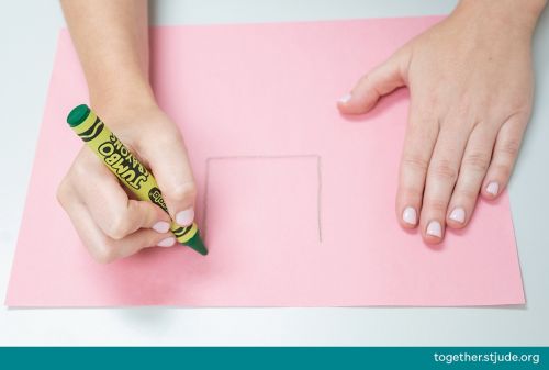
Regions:
M 101 112 L 99 112 L 101 113 Z M 143 248 L 176 244 L 170 216 L 187 226 L 194 218 L 195 186 L 183 139 L 157 106 L 101 116 L 114 134 L 150 169 L 170 215 L 148 201 L 128 197 L 117 178 L 82 147 L 57 191 L 91 256 L 111 262 Z

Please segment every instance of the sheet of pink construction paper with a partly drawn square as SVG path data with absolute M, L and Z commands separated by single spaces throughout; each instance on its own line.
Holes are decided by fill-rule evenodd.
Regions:
M 10 306 L 498 305 L 525 302 L 507 194 L 438 247 L 397 225 L 408 96 L 345 117 L 336 99 L 439 18 L 152 30 L 153 80 L 180 125 L 210 255 L 154 248 L 94 262 L 57 204 L 88 100 L 59 37 Z

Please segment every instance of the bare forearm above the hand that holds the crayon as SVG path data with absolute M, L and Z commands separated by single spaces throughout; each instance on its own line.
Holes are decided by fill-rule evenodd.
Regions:
M 98 110 L 150 104 L 146 0 L 61 0 Z

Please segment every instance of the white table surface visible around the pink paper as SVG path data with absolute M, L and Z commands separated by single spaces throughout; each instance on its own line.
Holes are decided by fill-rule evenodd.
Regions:
M 456 1 L 159 0 L 154 24 L 446 14 Z M 0 11 L 0 298 L 8 285 L 57 34 L 57 1 Z M 549 345 L 549 10 L 535 37 L 536 106 L 509 191 L 525 307 L 0 307 L 0 345 Z M 44 214 L 47 222 L 47 214 Z

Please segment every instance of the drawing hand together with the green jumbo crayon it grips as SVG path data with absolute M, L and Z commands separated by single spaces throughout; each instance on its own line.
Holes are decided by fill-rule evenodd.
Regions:
M 157 125 L 152 124 L 153 115 L 159 121 Z M 109 262 L 155 245 L 171 246 L 176 239 L 200 254 L 208 253 L 192 223 L 189 205 L 194 201 L 194 188 L 179 131 L 160 111 L 144 116 L 144 122 L 132 120 L 131 128 L 116 126 L 116 132 L 132 148 L 138 148 L 134 153 L 139 159 L 154 168 L 158 182 L 167 188 L 165 194 L 148 168 L 88 106 L 77 106 L 68 117 L 92 150 L 81 150 L 59 188 L 59 200 L 82 242 L 100 261 Z M 189 191 L 173 191 L 178 187 Z M 138 200 L 128 199 L 127 191 Z M 176 212 L 169 214 L 168 210 Z

